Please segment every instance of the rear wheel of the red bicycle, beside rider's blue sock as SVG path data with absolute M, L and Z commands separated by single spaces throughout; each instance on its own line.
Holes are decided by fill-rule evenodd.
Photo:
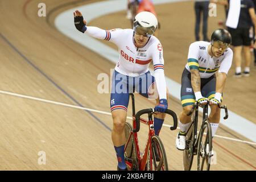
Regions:
M 125 162 L 126 164 L 131 164 L 131 170 L 139 170 L 138 158 L 136 146 L 134 143 L 134 135 L 131 134 L 133 127 L 130 123 L 125 123 L 125 138 L 126 138 L 126 148 L 125 148 Z

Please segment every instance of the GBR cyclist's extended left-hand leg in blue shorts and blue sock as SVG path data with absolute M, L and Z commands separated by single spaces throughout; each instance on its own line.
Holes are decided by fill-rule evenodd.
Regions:
M 118 169 L 125 169 L 125 122 L 127 106 L 129 104 L 129 90 L 127 89 L 127 76 L 114 72 L 112 78 L 112 93 L 110 110 L 113 118 L 112 141 L 118 159 Z M 123 89 L 123 90 L 122 90 Z

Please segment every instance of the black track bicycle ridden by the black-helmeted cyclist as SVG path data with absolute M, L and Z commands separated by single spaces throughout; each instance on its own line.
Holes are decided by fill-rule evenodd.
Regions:
M 190 171 L 193 163 L 193 156 L 197 155 L 197 171 L 209 171 L 210 163 L 213 157 L 212 152 L 212 129 L 208 121 L 209 101 L 203 107 L 203 123 L 200 127 L 199 135 L 197 135 L 198 111 L 199 104 L 196 102 L 191 111 L 187 114 L 191 115 L 192 122 L 186 131 L 186 146 L 183 151 L 183 167 L 185 171 Z M 225 109 L 225 117 L 228 118 L 228 109 L 226 105 L 220 106 Z M 195 110 L 195 112 L 193 112 Z

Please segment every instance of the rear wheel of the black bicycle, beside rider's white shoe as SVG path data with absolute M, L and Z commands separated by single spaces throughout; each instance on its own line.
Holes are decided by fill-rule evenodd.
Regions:
M 186 135 L 186 146 L 185 150 L 183 151 L 183 168 L 184 171 L 190 171 L 193 163 L 193 152 L 194 152 L 194 140 L 195 140 L 195 133 L 194 133 L 194 122 L 191 122 L 191 125 L 188 128 L 187 135 Z

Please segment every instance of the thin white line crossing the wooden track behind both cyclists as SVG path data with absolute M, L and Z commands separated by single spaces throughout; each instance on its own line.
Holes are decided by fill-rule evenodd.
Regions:
M 6 91 L 3 91 L 3 90 L 0 90 L 0 93 L 1 93 L 1 94 L 6 94 L 6 95 L 9 95 L 9 96 L 15 96 L 15 97 L 20 97 L 20 98 L 27 98 L 27 99 L 29 99 L 29 100 L 35 100 L 35 101 L 40 101 L 40 102 L 46 102 L 46 103 L 54 104 L 54 105 L 60 105 L 60 106 L 65 106 L 65 107 L 71 107 L 71 108 L 81 109 L 81 110 L 88 110 L 88 111 L 92 111 L 92 112 L 94 112 L 94 113 L 99 113 L 99 114 L 111 115 L 111 113 L 105 112 L 105 111 L 100 111 L 100 110 L 96 110 L 96 109 L 89 109 L 89 108 L 86 108 L 86 107 L 75 106 L 75 105 L 71 105 L 71 104 L 65 104 L 65 103 L 62 103 L 62 102 L 56 102 L 56 101 L 46 100 L 46 99 L 38 98 L 38 97 L 26 96 L 26 95 L 23 95 L 23 94 L 18 94 L 18 93 L 13 93 L 13 92 L 6 92 Z M 127 117 L 127 119 L 131 119 L 131 120 L 132 120 L 133 118 L 132 118 L 132 117 Z M 170 128 L 172 125 L 163 124 L 163 126 Z M 177 127 L 177 129 L 179 129 L 179 127 Z M 254 142 L 248 142 L 248 141 L 245 141 L 245 140 L 234 139 L 234 138 L 229 138 L 229 137 L 223 137 L 223 136 L 220 136 L 220 135 L 214 135 L 214 137 L 223 138 L 223 139 L 227 139 L 227 140 L 233 140 L 233 141 L 241 142 L 241 143 L 248 143 L 248 144 L 256 145 L 256 143 L 254 143 Z

